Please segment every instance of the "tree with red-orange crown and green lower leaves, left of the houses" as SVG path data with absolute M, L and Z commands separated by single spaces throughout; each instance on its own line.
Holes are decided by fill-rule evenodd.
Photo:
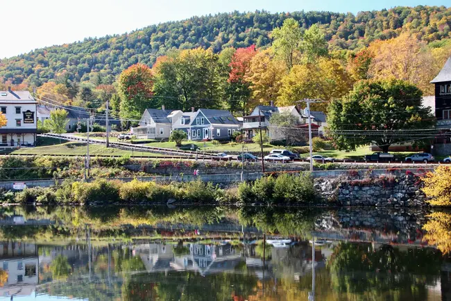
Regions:
M 144 64 L 135 64 L 119 76 L 118 92 L 121 97 L 122 119 L 139 120 L 146 108 L 152 106 L 153 74 Z

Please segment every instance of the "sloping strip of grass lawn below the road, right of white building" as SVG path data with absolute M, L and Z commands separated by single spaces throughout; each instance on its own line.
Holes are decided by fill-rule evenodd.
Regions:
M 58 140 L 58 139 L 56 139 Z M 64 140 L 63 140 L 64 141 Z M 68 142 L 56 145 L 44 145 L 38 147 L 24 147 L 15 149 L 10 154 L 35 154 L 35 155 L 76 155 L 84 156 L 86 154 L 86 143 Z M 114 149 L 104 147 L 103 145 L 90 145 L 90 156 L 143 156 L 159 157 L 161 154 L 151 154 L 148 152 L 131 152 L 128 150 Z

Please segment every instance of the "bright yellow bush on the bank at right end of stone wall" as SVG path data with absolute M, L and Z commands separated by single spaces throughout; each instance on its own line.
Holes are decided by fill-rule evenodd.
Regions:
M 425 186 L 423 193 L 430 197 L 429 204 L 433 206 L 451 205 L 451 168 L 440 165 L 434 172 L 427 172 L 422 178 Z

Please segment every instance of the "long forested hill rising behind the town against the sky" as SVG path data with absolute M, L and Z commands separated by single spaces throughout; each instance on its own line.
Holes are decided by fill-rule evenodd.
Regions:
M 396 7 L 351 13 L 296 12 L 271 14 L 221 13 L 148 26 L 139 31 L 103 38 L 87 38 L 60 46 L 0 60 L 0 83 L 40 86 L 65 72 L 71 81 L 90 81 L 101 74 L 112 83 L 117 74 L 135 63 L 152 65 L 170 49 L 247 47 L 271 44 L 271 31 L 293 17 L 303 28 L 319 23 L 330 50 L 359 49 L 373 40 L 386 40 L 401 32 L 418 33 L 432 42 L 450 38 L 451 8 L 444 6 Z

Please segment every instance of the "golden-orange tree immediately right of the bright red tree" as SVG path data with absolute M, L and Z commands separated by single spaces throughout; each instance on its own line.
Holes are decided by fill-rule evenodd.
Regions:
M 250 83 L 252 99 L 250 106 L 268 104 L 279 96 L 282 77 L 287 74 L 287 67 L 281 60 L 274 58 L 272 49 L 257 53 L 250 61 L 250 68 L 245 80 Z

